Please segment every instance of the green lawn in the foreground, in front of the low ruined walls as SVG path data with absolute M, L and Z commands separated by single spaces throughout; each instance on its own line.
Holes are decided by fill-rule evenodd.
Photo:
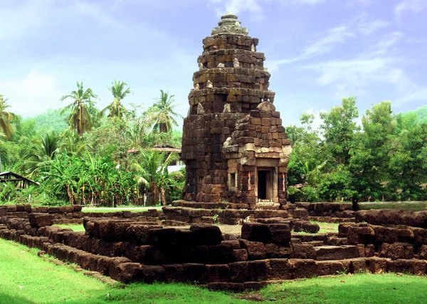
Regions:
M 257 292 L 212 292 L 194 285 L 135 283 L 113 288 L 0 239 L 0 303 L 425 303 L 425 277 L 358 274 L 288 281 Z

